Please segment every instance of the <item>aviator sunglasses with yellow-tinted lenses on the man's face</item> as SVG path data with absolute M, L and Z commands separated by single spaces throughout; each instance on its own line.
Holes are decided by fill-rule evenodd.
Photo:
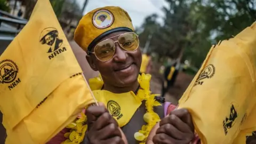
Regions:
M 114 37 L 118 37 L 118 41 L 113 41 Z M 118 44 L 122 47 L 125 51 L 135 51 L 139 47 L 139 37 L 137 34 L 133 32 L 124 33 L 121 35 L 117 35 L 114 37 L 110 37 L 100 43 L 98 43 L 94 47 L 94 52 L 88 52 L 95 55 L 95 57 L 100 61 L 108 61 L 113 58 L 116 51 L 115 43 L 118 42 Z

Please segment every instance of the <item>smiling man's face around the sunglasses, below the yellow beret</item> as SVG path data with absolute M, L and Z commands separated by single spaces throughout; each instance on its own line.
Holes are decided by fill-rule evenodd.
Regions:
M 125 31 L 118 31 L 107 35 L 101 41 L 126 33 Z M 114 41 L 118 37 L 112 38 Z M 100 42 L 101 42 L 100 41 Z M 105 84 L 111 84 L 117 87 L 125 87 L 134 84 L 137 81 L 140 65 L 141 65 L 141 51 L 138 48 L 133 52 L 123 50 L 118 43 L 115 43 L 116 51 L 112 59 L 109 61 L 100 61 L 95 55 L 91 55 L 89 63 L 91 67 L 94 65 L 94 70 L 99 70 Z

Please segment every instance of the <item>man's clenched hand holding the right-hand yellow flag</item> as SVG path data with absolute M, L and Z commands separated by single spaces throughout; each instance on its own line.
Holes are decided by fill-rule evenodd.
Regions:
M 194 125 L 188 110 L 173 110 L 159 122 L 155 133 L 153 142 L 157 144 L 189 144 L 194 139 Z

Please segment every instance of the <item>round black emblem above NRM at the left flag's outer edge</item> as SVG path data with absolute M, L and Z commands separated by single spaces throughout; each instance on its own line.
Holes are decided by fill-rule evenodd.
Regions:
M 16 63 L 10 59 L 5 59 L 0 62 L 0 83 L 10 84 L 9 90 L 12 90 L 21 81 L 17 78 L 19 68 Z

